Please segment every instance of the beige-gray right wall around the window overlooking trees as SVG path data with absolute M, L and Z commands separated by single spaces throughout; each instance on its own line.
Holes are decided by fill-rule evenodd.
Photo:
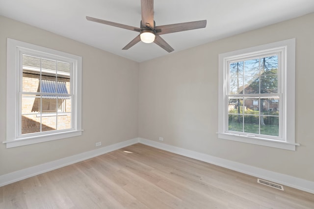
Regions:
M 139 137 L 314 181 L 314 13 L 140 64 Z M 296 151 L 218 139 L 218 54 L 296 38 Z

